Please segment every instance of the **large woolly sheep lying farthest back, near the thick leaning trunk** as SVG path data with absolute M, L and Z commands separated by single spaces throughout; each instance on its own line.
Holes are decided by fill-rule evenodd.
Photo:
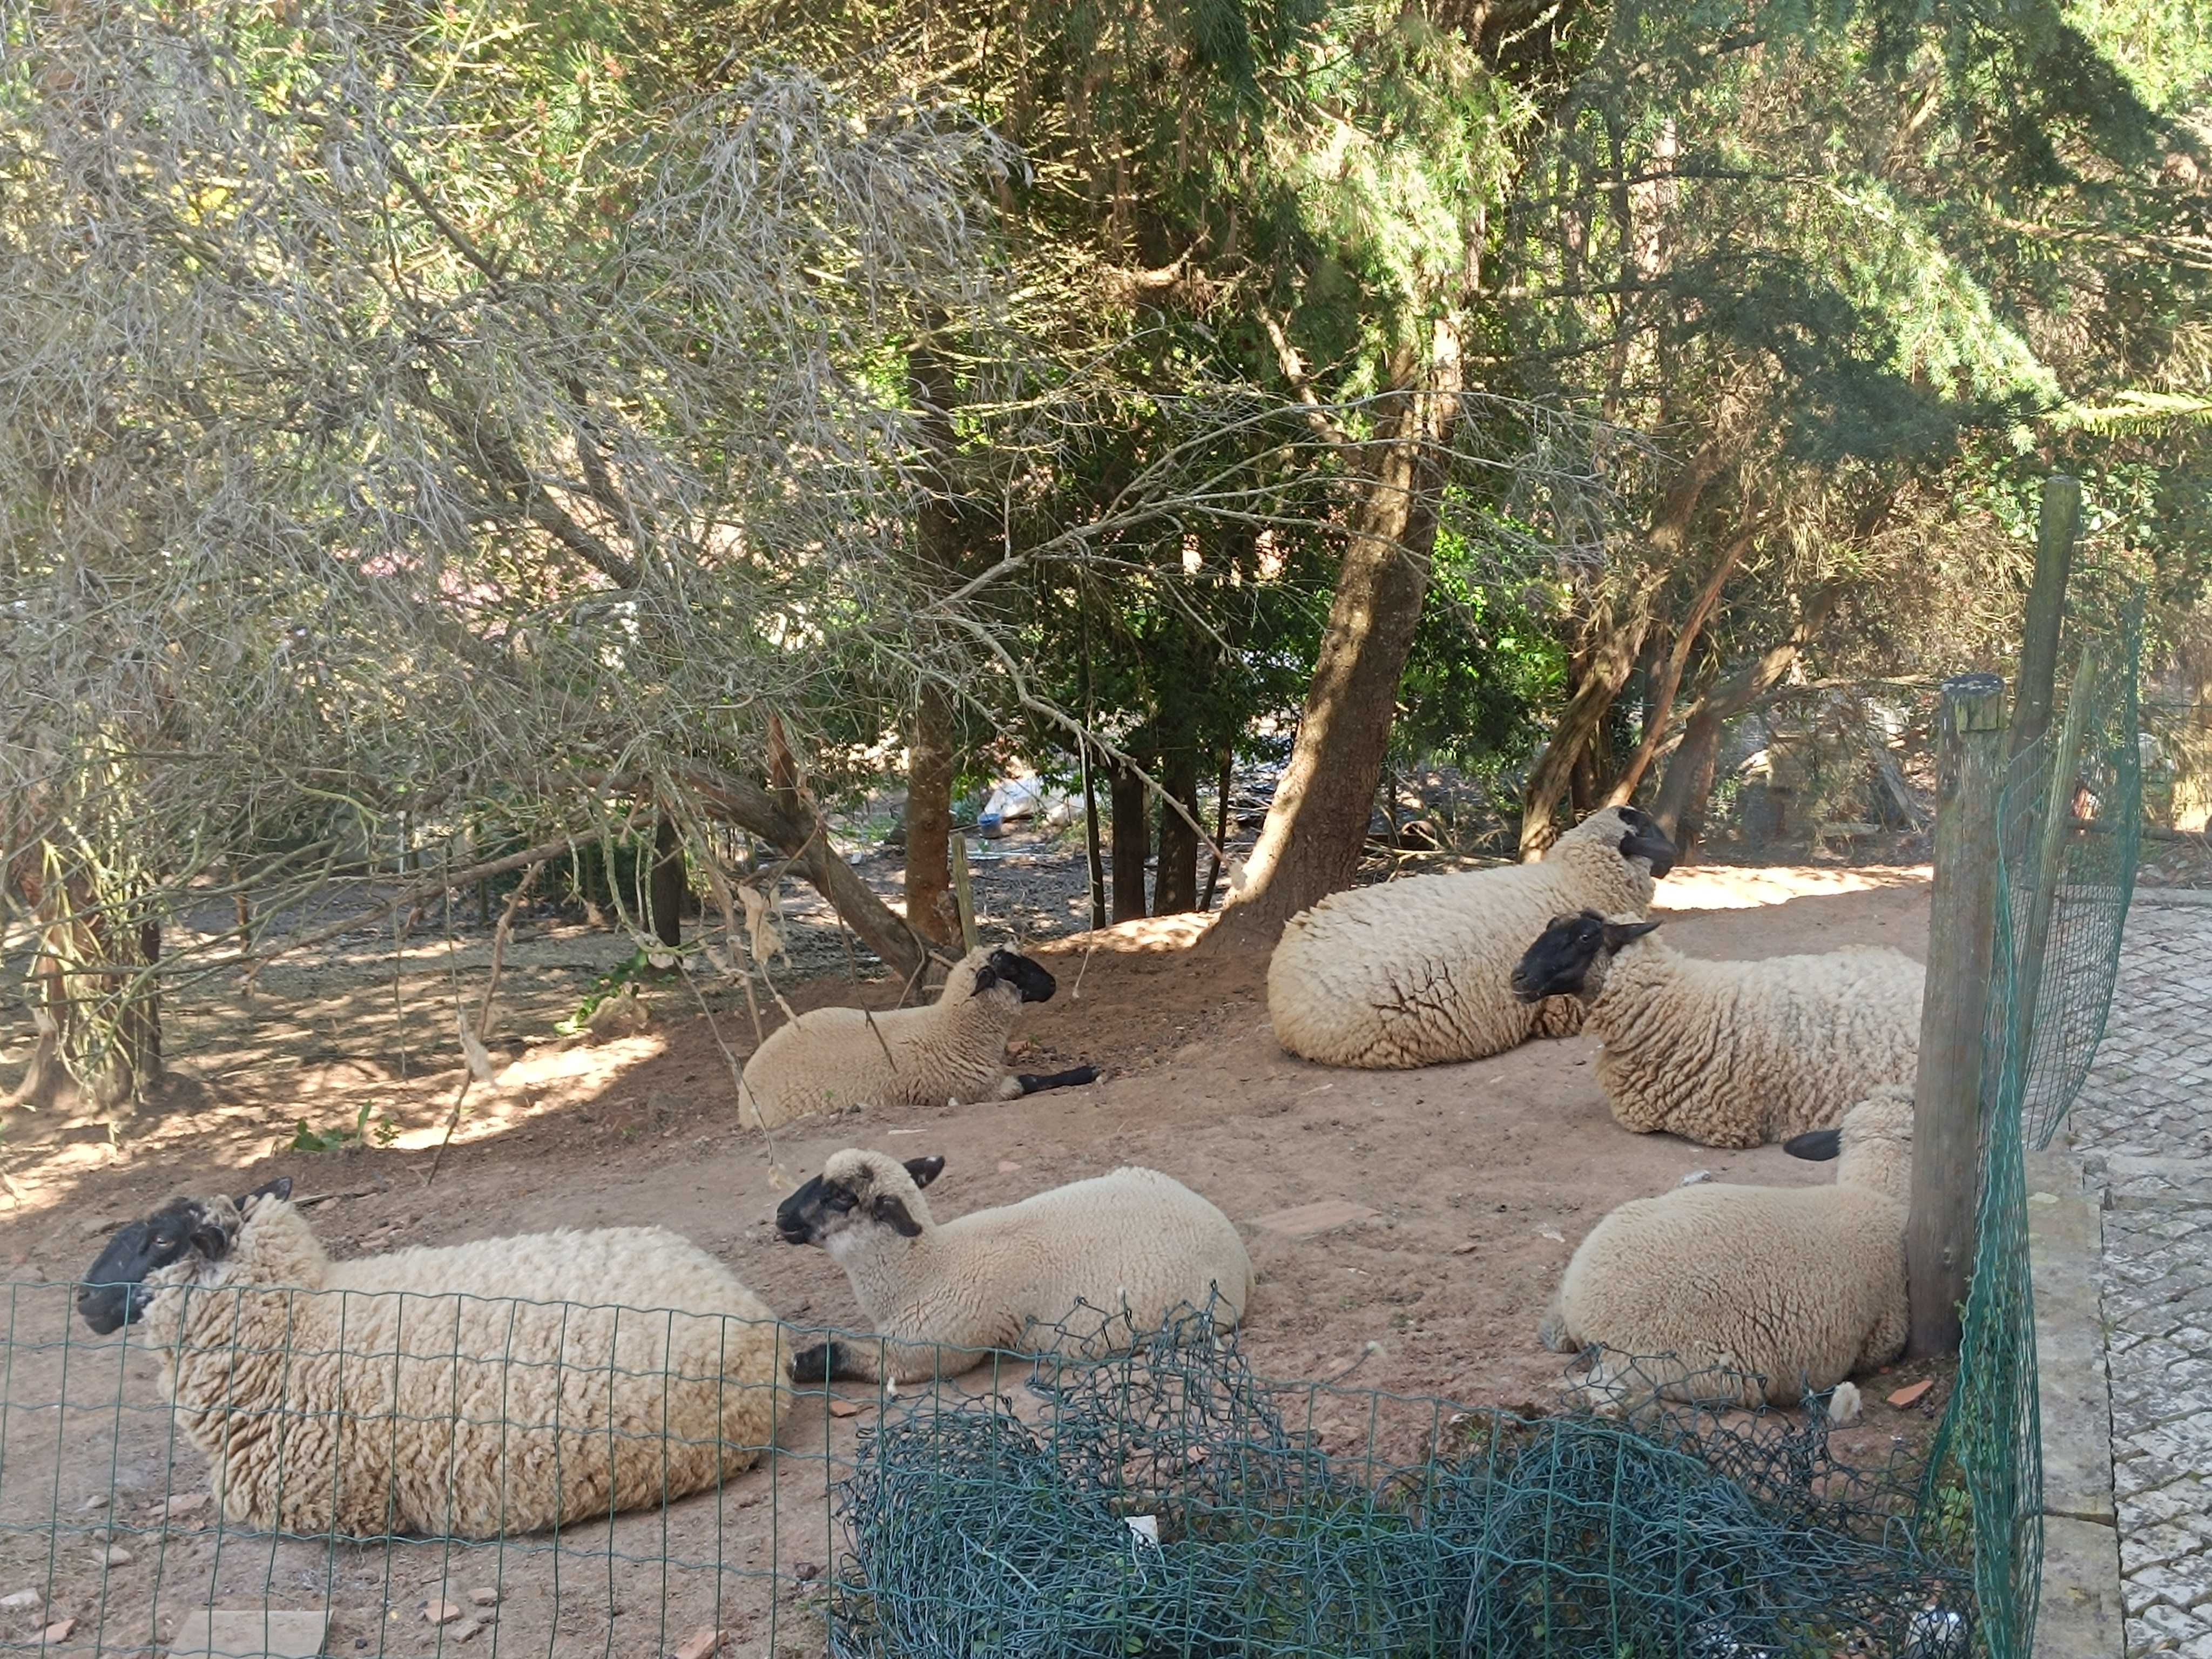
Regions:
M 1274 1037 L 1329 1066 L 1389 1071 L 1504 1053 L 1582 1029 L 1573 1000 L 1526 1009 L 1513 949 L 1564 905 L 1644 914 L 1674 847 L 1635 807 L 1593 812 L 1540 865 L 1413 876 L 1329 894 L 1267 962 Z

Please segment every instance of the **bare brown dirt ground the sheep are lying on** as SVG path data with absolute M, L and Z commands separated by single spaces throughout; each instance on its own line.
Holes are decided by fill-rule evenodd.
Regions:
M 1661 883 L 1659 902 L 1668 936 L 1701 956 L 1845 945 L 1924 953 L 1924 867 L 1701 867 Z M 772 1475 L 745 1475 L 666 1515 L 571 1528 L 557 1546 L 511 1542 L 502 1559 L 445 1544 L 217 1537 L 206 1511 L 164 1524 L 161 1500 L 201 1489 L 204 1464 L 173 1447 L 150 1358 L 71 1325 L 62 1290 L 40 1283 L 82 1274 L 106 1230 L 173 1192 L 239 1192 L 290 1175 L 299 1197 L 319 1199 L 312 1214 L 336 1254 L 661 1223 L 723 1256 L 785 1321 L 836 1327 L 856 1321 L 843 1274 L 821 1252 L 781 1245 L 772 1212 L 838 1146 L 945 1155 L 931 1188 L 940 1217 L 1148 1164 L 1245 1232 L 1261 1274 L 1245 1334 L 1254 1367 L 1334 1385 L 1340 1391 L 1310 1396 L 1323 1442 L 1398 1462 L 1422 1453 L 1440 1409 L 1422 1400 L 1371 1416 L 1367 1389 L 1469 1407 L 1546 1409 L 1557 1398 L 1562 1360 L 1537 1347 L 1537 1316 L 1573 1245 L 1615 1203 L 1694 1170 L 1721 1181 L 1832 1179 L 1832 1168 L 1778 1148 L 1723 1152 L 1628 1135 L 1606 1113 L 1588 1037 L 1416 1073 L 1292 1060 L 1267 1029 L 1263 962 L 1197 960 L 1194 931 L 1194 918 L 1170 918 L 1035 947 L 1060 995 L 1024 1015 L 1022 1068 L 1093 1062 L 1104 1082 L 1011 1104 L 803 1121 L 770 1144 L 737 1128 L 732 1068 L 754 1042 L 741 991 L 655 987 L 646 1031 L 562 1044 L 551 1020 L 573 1006 L 580 978 L 628 945 L 535 927 L 511 969 L 493 1048 L 500 1086 L 471 1091 L 431 1186 L 465 1075 L 453 1006 L 473 1006 L 482 938 L 416 945 L 394 982 L 305 962 L 263 973 L 250 1000 L 210 989 L 179 1004 L 170 1031 L 184 1082 L 164 1113 L 113 1128 L 7 1126 L 0 1641 L 75 1617 L 80 1628 L 51 1646 L 106 1630 L 113 1652 L 168 1639 L 184 1610 L 217 1595 L 257 1608 L 263 1597 L 327 1601 L 334 1655 L 429 1652 L 482 1613 L 465 1590 L 498 1588 L 487 1650 L 520 1641 L 549 1655 L 670 1652 L 692 1626 L 730 1628 L 745 1652 L 821 1646 L 807 1608 L 832 1548 L 825 1484 L 876 1420 L 874 1389 L 845 1389 L 858 1409 L 841 1402 L 836 1413 L 818 1391 L 794 1400 Z M 843 975 L 783 989 L 794 1006 L 896 1000 L 896 987 Z M 772 1026 L 772 1000 L 765 1013 Z M 20 1040 L 0 1060 L 20 1060 Z M 296 1119 L 349 1126 L 361 1106 L 372 1130 L 387 1124 L 389 1146 L 279 1150 Z M 1840 1436 L 1849 1455 L 1878 1460 L 1940 1411 L 1942 1383 L 1891 1409 L 1885 1394 L 1905 1376 L 1867 1389 L 1867 1420 Z M 1020 1394 L 1011 1380 L 1002 1387 Z M 113 1511 L 84 1509 L 111 1491 Z M 51 1515 L 66 1522 L 60 1537 Z M 100 1526 L 122 1531 L 93 1537 Z M 133 1559 L 102 1566 L 117 1546 Z M 53 1599 L 7 1610 L 4 1597 L 24 1588 Z M 427 1621 L 422 1608 L 440 1599 L 467 1613 Z

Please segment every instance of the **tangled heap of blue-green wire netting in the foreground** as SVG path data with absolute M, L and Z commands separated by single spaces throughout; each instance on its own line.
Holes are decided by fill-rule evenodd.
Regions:
M 1292 1431 L 1208 1321 L 1002 1396 L 898 1409 L 841 1493 L 838 1655 L 1964 1659 L 1971 1593 L 1905 1469 L 1820 1405 L 1455 1413 L 1385 1467 Z M 1409 1402 L 1402 1396 L 1396 1405 Z

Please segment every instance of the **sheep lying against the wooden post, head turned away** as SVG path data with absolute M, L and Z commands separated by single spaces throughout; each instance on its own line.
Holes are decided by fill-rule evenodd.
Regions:
M 1845 1378 L 1905 1347 L 1911 1084 L 1869 1091 L 1840 1130 L 1807 1130 L 1783 1150 L 1840 1152 L 1836 1186 L 1688 1186 L 1590 1228 L 1537 1332 L 1555 1354 L 1608 1349 L 1586 1398 L 1621 1407 L 1637 1385 L 1752 1407 L 1836 1387 L 1829 1420 L 1858 1413 Z

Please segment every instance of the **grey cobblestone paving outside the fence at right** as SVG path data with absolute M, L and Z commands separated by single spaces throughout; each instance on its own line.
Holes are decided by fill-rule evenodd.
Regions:
M 2073 1141 L 2106 1183 L 2128 1659 L 2212 1659 L 2212 905 L 2128 914 Z

